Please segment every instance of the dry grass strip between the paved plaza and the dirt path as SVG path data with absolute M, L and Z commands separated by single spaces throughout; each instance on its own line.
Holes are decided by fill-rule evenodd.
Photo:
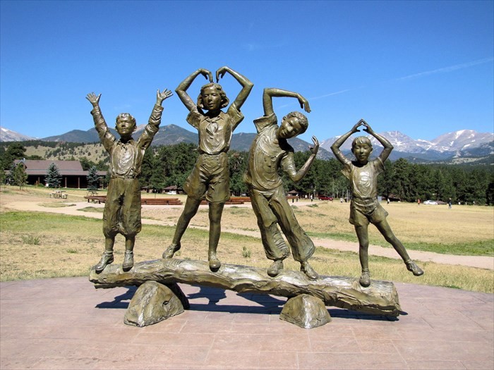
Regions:
M 0 214 L 0 280 L 87 276 L 104 249 L 102 221 L 80 216 L 4 211 Z M 135 242 L 135 261 L 161 258 L 169 245 L 174 228 L 143 226 Z M 27 242 L 37 238 L 38 244 Z M 183 237 L 181 259 L 207 259 L 207 231 L 188 229 Z M 117 236 L 115 263 L 123 261 L 124 240 Z M 267 269 L 263 246 L 258 238 L 223 233 L 218 257 L 227 264 L 255 266 Z M 356 253 L 318 248 L 311 264 L 322 275 L 354 276 L 360 274 Z M 424 276 L 414 277 L 401 261 L 370 257 L 372 277 L 378 280 L 402 281 L 425 285 L 440 285 L 465 290 L 494 292 L 493 271 L 462 266 L 422 264 Z M 286 269 L 299 270 L 291 257 Z

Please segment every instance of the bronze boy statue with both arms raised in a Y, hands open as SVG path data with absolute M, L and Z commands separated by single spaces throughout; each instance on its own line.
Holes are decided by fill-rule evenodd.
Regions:
M 95 121 L 95 128 L 100 135 L 100 140 L 110 155 L 107 199 L 103 211 L 104 253 L 100 262 L 95 266 L 95 271 L 100 273 L 107 264 L 114 261 L 113 246 L 115 236 L 121 233 L 125 237 L 125 257 L 123 257 L 122 269 L 128 271 L 134 265 L 133 249 L 135 235 L 140 232 L 140 185 L 138 177 L 143 164 L 143 156 L 152 138 L 159 130 L 162 116 L 162 102 L 171 97 L 171 91 L 157 91 L 156 104 L 144 132 L 139 140 L 132 138 L 135 131 L 135 118 L 129 113 L 121 113 L 116 117 L 116 132 L 120 140 L 110 132 L 100 110 L 101 94 L 96 96 L 94 92 L 87 95 L 87 99 L 93 106 L 91 111 Z

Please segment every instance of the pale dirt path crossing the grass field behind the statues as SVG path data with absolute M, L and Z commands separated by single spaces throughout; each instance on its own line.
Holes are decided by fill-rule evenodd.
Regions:
M 37 202 L 25 202 L 25 201 L 14 201 L 14 202 L 6 202 L 2 204 L 2 207 L 8 209 L 16 209 L 18 211 L 39 211 L 39 212 L 50 212 L 55 214 L 69 214 L 73 216 L 85 216 L 92 218 L 102 218 L 102 214 L 100 213 L 92 213 L 80 211 L 87 206 L 94 206 L 96 208 L 102 208 L 104 204 L 88 204 L 88 202 L 74 202 L 75 206 L 65 206 L 60 208 L 51 208 L 46 206 L 40 206 Z M 309 203 L 310 204 L 310 203 Z M 250 205 L 245 205 L 250 206 Z M 159 207 L 162 208 L 164 206 L 145 206 L 145 207 Z M 167 206 L 170 207 L 183 207 L 183 206 Z M 207 206 L 204 206 L 207 207 Z M 159 220 L 151 220 L 148 218 L 143 218 L 143 223 L 148 225 L 162 225 L 162 226 L 175 226 L 173 222 L 159 221 Z M 198 226 L 189 226 L 193 228 L 200 228 L 203 230 L 207 230 L 207 228 L 198 227 Z M 260 238 L 258 231 L 249 231 L 249 230 L 240 230 L 240 229 L 229 229 L 223 228 L 222 231 L 224 233 L 235 233 L 239 235 L 248 235 L 255 238 Z M 349 252 L 358 252 L 358 246 L 354 242 L 344 242 L 341 240 L 330 240 L 323 238 L 313 238 L 313 242 L 318 247 L 325 247 L 330 249 L 338 249 L 342 251 Z M 409 255 L 411 259 L 416 261 L 430 261 L 438 264 L 452 264 L 452 265 L 461 265 L 461 266 L 471 266 L 477 267 L 480 269 L 489 269 L 494 270 L 494 257 L 487 256 L 457 256 L 452 254 L 440 254 L 434 252 L 423 252 L 417 250 L 409 250 Z M 380 247 L 378 245 L 370 245 L 369 246 L 369 254 L 380 257 L 388 257 L 393 259 L 399 259 L 397 252 L 392 248 Z

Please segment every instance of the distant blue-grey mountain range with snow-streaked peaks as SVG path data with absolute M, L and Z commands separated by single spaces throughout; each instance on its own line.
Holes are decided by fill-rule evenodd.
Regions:
M 144 129 L 145 125 L 138 126 L 135 137 L 140 135 L 140 132 Z M 114 135 L 117 135 L 113 129 Z M 366 132 L 359 133 L 359 135 L 367 135 Z M 390 140 L 394 150 L 390 159 L 396 160 L 398 158 L 406 158 L 410 161 L 454 161 L 459 159 L 491 159 L 494 157 L 494 133 L 493 132 L 476 132 L 474 130 L 459 130 L 455 132 L 448 132 L 444 135 L 436 137 L 434 140 L 414 140 L 411 137 L 404 135 L 399 131 L 387 131 L 380 133 L 387 140 Z M 118 136 L 118 135 L 117 135 Z M 357 136 L 357 135 L 355 135 Z M 251 143 L 254 140 L 255 133 L 240 132 L 234 134 L 231 139 L 231 149 L 238 151 L 248 151 L 251 147 Z M 324 140 L 320 144 L 320 151 L 318 158 L 330 159 L 333 157 L 331 153 L 331 145 L 337 137 L 330 137 Z M 375 140 L 374 137 L 370 137 L 373 146 L 382 147 L 381 144 Z M 0 127 L 0 142 L 13 142 L 13 141 L 27 141 L 27 140 L 41 140 L 47 142 L 99 142 L 100 139 L 97 135 L 95 128 L 90 130 L 72 130 L 62 135 L 44 137 L 38 139 L 35 137 L 29 137 L 27 135 L 8 130 Z M 350 138 L 342 145 L 342 152 L 348 154 L 351 149 Z M 171 145 L 178 144 L 179 142 L 198 142 L 198 134 L 191 132 L 177 125 L 165 125 L 159 129 L 155 135 L 155 139 L 152 144 L 158 145 Z M 294 147 L 296 152 L 308 150 L 308 146 L 312 143 L 300 140 L 294 137 L 289 140 L 289 143 Z M 374 151 L 379 152 L 378 150 Z M 487 163 L 489 163 L 489 161 Z

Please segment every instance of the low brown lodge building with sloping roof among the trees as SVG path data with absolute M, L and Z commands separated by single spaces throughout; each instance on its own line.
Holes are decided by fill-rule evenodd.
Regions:
M 61 187 L 72 187 L 76 189 L 85 189 L 88 187 L 88 172 L 84 171 L 80 161 L 44 161 L 22 159 L 14 161 L 16 165 L 23 163 L 25 173 L 28 174 L 28 185 L 45 185 L 50 164 L 55 164 L 61 174 Z M 97 174 L 102 176 L 107 175 L 106 171 L 97 171 Z

